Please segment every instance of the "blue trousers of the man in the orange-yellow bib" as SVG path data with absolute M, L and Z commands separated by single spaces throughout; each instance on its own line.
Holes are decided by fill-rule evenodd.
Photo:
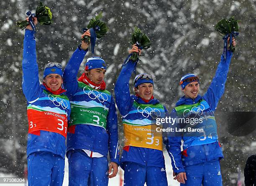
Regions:
M 167 186 L 165 168 L 143 166 L 127 161 L 124 165 L 124 186 Z

